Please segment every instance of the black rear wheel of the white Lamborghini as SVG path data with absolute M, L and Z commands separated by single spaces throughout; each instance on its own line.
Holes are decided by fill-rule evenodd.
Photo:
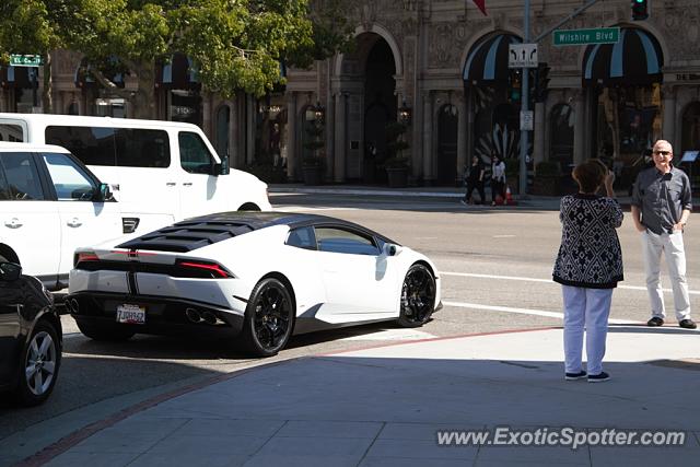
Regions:
M 294 320 L 292 296 L 278 279 L 262 279 L 255 285 L 243 324 L 243 342 L 258 357 L 277 354 L 289 340 Z

